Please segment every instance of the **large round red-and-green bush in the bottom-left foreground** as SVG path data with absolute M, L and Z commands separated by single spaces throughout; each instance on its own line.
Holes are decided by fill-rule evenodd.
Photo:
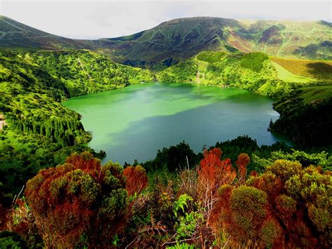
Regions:
M 46 247 L 73 248 L 83 235 L 89 246 L 109 244 L 127 207 L 123 169 L 102 167 L 89 152 L 39 171 L 27 182 L 25 196 Z

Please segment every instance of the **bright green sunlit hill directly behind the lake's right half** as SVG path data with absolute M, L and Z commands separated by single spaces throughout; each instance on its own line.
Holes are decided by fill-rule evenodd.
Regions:
M 280 69 L 275 67 L 268 55 L 264 53 L 243 54 L 205 51 L 165 69 L 157 77 L 159 81 L 243 88 L 271 97 L 285 95 L 302 86 L 328 82 L 290 76 L 291 73 L 283 74 L 280 77 Z M 287 80 L 285 77 L 288 77 Z

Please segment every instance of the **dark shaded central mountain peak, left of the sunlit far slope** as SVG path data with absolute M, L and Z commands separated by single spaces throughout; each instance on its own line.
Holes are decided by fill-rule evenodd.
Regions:
M 172 64 L 172 60 L 189 58 L 200 51 L 220 50 L 227 45 L 226 29 L 240 29 L 237 20 L 224 18 L 181 18 L 162 22 L 157 27 L 132 36 L 102 39 L 110 54 L 119 61 L 146 60 Z M 229 48 L 236 50 L 235 48 Z

